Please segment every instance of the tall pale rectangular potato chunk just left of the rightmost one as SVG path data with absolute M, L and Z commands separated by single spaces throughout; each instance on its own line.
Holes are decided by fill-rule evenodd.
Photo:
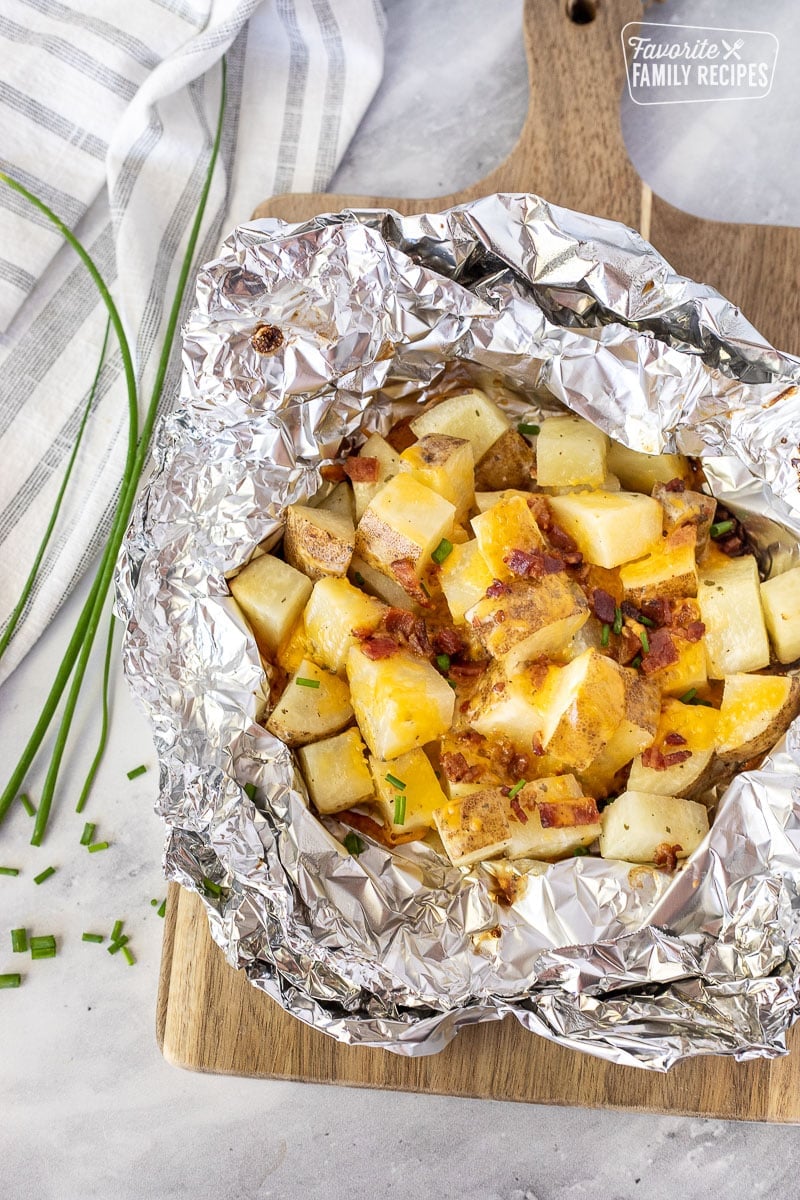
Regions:
M 758 566 L 751 554 L 700 571 L 697 602 L 705 624 L 711 679 L 768 666 L 770 646 L 762 611 Z

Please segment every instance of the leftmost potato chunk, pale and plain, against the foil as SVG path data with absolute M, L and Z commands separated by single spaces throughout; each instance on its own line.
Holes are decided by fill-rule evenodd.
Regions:
M 272 658 L 311 595 L 311 580 L 275 554 L 260 554 L 228 581 L 258 648 Z

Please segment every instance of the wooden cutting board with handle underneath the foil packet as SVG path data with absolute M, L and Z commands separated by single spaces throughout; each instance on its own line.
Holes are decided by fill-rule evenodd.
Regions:
M 488 192 L 537 192 L 639 228 L 678 271 L 712 283 L 775 346 L 796 354 L 800 230 L 687 216 L 654 197 L 628 161 L 619 120 L 620 32 L 640 17 L 639 0 L 527 0 L 528 116 L 509 158 L 475 186 L 420 200 L 278 196 L 255 215 L 297 221 L 351 206 L 438 211 Z M 788 1058 L 744 1064 L 699 1058 L 666 1076 L 561 1049 L 512 1019 L 473 1026 L 426 1058 L 339 1045 L 288 1016 L 233 971 L 211 941 L 200 901 L 175 886 L 167 907 L 157 1034 L 167 1060 L 193 1070 L 800 1122 L 796 1031 Z

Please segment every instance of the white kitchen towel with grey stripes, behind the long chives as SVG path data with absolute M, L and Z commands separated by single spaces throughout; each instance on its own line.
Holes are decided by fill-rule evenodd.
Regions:
M 379 0 L 4 0 L 0 169 L 46 200 L 112 288 L 146 404 L 228 84 L 198 262 L 283 191 L 319 191 L 383 67 Z M 191 300 L 191 298 L 190 298 Z M 0 631 L 90 395 L 106 310 L 47 220 L 0 184 Z M 175 395 L 173 353 L 163 389 Z M 108 534 L 125 461 L 114 338 L 60 520 L 2 680 Z

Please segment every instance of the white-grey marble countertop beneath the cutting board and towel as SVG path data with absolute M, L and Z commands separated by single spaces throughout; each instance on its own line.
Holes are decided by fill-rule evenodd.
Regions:
M 513 144 L 525 108 L 521 5 L 493 6 L 491 22 L 481 0 L 446 7 L 447 17 L 431 18 L 422 0 L 387 5 L 385 82 L 333 181 L 337 190 L 434 194 L 480 178 Z M 734 24 L 727 7 L 720 19 L 714 0 L 692 5 L 697 19 L 705 7 L 709 24 Z M 788 2 L 774 7 L 789 20 Z M 453 13 L 463 18 L 457 26 Z M 457 38 L 453 28 L 467 36 Z M 795 28 L 800 40 L 796 19 Z M 467 120 L 469 113 L 481 120 Z M 652 124 L 639 131 L 639 150 L 652 136 Z M 651 152 L 650 161 L 657 162 Z M 714 205 L 694 175 L 684 182 L 686 206 Z M 679 203 L 675 186 L 673 180 L 669 199 Z M 800 220 L 789 191 L 771 220 Z M 757 206 L 759 196 L 768 211 L 752 184 L 738 197 L 745 205 L 738 220 L 753 220 L 741 211 Z M 83 590 L 0 690 L 6 770 Z M 92 754 L 100 674 L 95 666 L 46 846 L 28 845 L 30 818 L 20 806 L 2 830 L 0 862 L 22 871 L 16 880 L 0 877 L 4 929 L 25 925 L 59 942 L 54 960 L 35 964 L 11 954 L 7 932 L 0 942 L 0 972 L 26 977 L 0 1000 L 4 1198 L 788 1200 L 796 1193 L 795 1128 L 251 1081 L 167 1066 L 155 1040 L 162 923 L 150 900 L 166 890 L 162 829 L 152 812 L 156 762 L 119 673 L 98 784 L 85 815 L 72 811 Z M 128 781 L 139 763 L 148 773 Z M 35 775 L 34 794 L 38 786 Z M 84 820 L 97 823 L 96 836 L 110 842 L 107 852 L 89 856 L 78 845 Z M 47 865 L 56 874 L 34 886 Z M 126 922 L 134 966 L 80 941 L 84 930 L 107 932 L 118 918 Z

